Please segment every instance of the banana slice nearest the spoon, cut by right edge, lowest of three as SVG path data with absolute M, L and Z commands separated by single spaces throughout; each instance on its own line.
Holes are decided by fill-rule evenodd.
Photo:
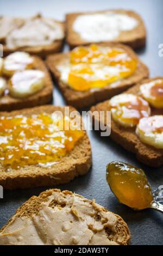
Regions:
M 156 149 L 163 149 L 163 115 L 140 119 L 136 134 L 142 142 Z

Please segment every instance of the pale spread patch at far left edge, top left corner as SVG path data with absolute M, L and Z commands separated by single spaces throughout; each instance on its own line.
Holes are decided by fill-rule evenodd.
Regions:
M 2 16 L 0 17 L 0 40 L 5 39 L 6 36 L 13 30 L 24 23 L 24 19 L 22 18 L 14 18 Z

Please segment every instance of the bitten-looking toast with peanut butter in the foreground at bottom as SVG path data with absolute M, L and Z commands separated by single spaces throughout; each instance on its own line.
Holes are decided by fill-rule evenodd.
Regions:
M 128 245 L 129 241 L 129 228 L 120 216 L 95 199 L 57 189 L 31 197 L 0 230 L 0 245 Z

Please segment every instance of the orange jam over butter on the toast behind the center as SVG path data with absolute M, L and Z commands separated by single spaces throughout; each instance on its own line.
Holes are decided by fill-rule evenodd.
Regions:
M 102 88 L 134 73 L 137 60 L 122 48 L 91 45 L 70 53 L 68 84 L 75 90 Z

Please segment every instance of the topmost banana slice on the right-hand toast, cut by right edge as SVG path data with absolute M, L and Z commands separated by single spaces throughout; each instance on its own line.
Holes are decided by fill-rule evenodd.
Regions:
M 163 78 L 140 86 L 142 97 L 155 108 L 163 108 Z

